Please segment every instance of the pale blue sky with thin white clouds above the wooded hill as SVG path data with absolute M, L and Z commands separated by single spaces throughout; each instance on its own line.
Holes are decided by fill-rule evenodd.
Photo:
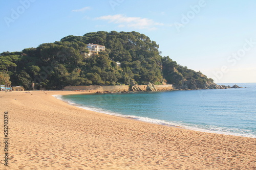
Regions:
M 161 56 L 216 83 L 256 82 L 255 0 L 12 0 L 0 2 L 0 53 L 68 35 L 136 31 Z

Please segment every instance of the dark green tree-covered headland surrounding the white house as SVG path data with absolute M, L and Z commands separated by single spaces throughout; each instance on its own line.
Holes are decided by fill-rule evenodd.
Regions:
M 104 45 L 88 54 L 88 43 Z M 200 71 L 162 57 L 159 45 L 138 32 L 92 32 L 60 41 L 0 54 L 0 76 L 6 86 L 62 89 L 64 86 L 174 84 L 178 88 L 218 88 Z M 117 64 L 121 63 L 120 65 Z M 32 86 L 33 84 L 33 86 Z

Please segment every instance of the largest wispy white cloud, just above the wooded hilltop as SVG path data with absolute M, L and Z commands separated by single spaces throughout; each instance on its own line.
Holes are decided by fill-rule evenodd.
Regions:
M 155 26 L 164 26 L 163 23 L 155 22 L 152 19 L 141 17 L 127 17 L 121 14 L 100 16 L 95 19 L 117 23 L 118 27 L 130 27 L 136 29 L 156 30 Z

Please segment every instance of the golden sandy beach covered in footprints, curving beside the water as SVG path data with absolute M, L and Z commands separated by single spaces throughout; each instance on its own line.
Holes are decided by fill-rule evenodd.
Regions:
M 84 92 L 0 92 L 0 169 L 256 169 L 255 138 L 139 122 L 52 96 L 75 93 Z M 4 111 L 9 115 L 8 167 Z

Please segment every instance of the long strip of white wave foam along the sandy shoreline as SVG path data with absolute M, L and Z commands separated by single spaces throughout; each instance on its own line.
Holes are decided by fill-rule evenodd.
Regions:
M 107 110 L 104 110 L 104 109 L 101 109 L 101 108 L 81 106 L 81 105 L 78 105 L 76 103 L 73 103 L 73 101 L 63 99 L 62 95 L 52 95 L 52 96 L 54 96 L 56 99 L 65 101 L 70 105 L 73 105 L 73 106 L 76 106 L 76 107 L 79 107 L 79 108 L 82 108 L 82 109 L 85 109 L 85 110 L 95 111 L 95 112 L 114 115 L 114 116 L 119 116 L 119 117 L 137 119 L 137 120 L 140 120 L 142 122 L 159 124 L 159 125 L 182 127 L 182 128 L 189 129 L 189 130 L 207 132 L 207 133 L 217 133 L 217 134 L 223 134 L 223 135 L 233 135 L 233 136 L 256 138 L 255 134 L 251 133 L 248 130 L 244 130 L 244 129 L 232 129 L 232 128 L 225 128 L 225 127 L 217 127 L 217 126 L 212 126 L 212 125 L 195 125 L 195 124 L 188 124 L 188 123 L 174 122 L 174 121 L 171 122 L 171 121 L 167 121 L 167 120 L 160 120 L 160 119 L 141 117 L 141 116 L 135 116 L 135 115 L 123 115 L 123 114 L 120 114 L 120 113 L 115 113 L 113 111 L 107 111 Z

